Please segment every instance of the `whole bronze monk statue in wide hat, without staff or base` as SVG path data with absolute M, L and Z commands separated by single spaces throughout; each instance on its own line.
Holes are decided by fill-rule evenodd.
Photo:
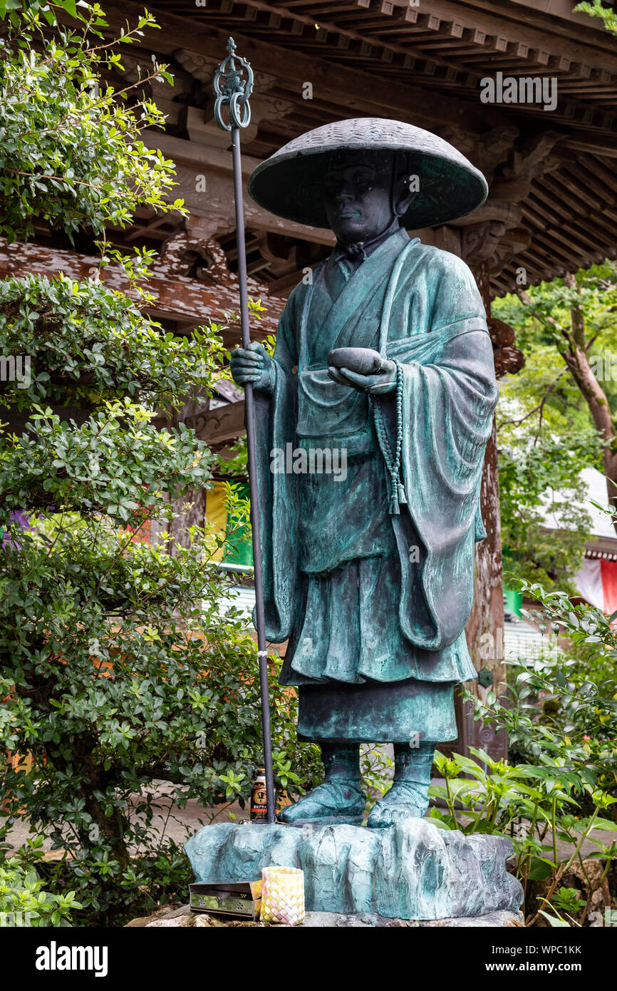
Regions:
M 266 634 L 288 639 L 280 682 L 325 766 L 279 821 L 361 824 L 360 744 L 392 742 L 367 820 L 392 826 L 425 815 L 455 686 L 475 678 L 464 625 L 497 401 L 473 276 L 406 229 L 469 213 L 486 182 L 437 136 L 362 118 L 291 141 L 249 189 L 336 237 L 291 292 L 273 358 L 257 343 L 231 357 L 256 389 Z

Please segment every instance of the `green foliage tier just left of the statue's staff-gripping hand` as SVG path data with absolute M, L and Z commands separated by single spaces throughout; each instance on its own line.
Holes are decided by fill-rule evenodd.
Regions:
M 0 404 L 93 408 L 138 393 L 160 405 L 199 390 L 220 368 L 220 337 L 164 333 L 123 292 L 65 275 L 0 282 L 0 354 L 29 359 L 29 382 L 0 384 Z

